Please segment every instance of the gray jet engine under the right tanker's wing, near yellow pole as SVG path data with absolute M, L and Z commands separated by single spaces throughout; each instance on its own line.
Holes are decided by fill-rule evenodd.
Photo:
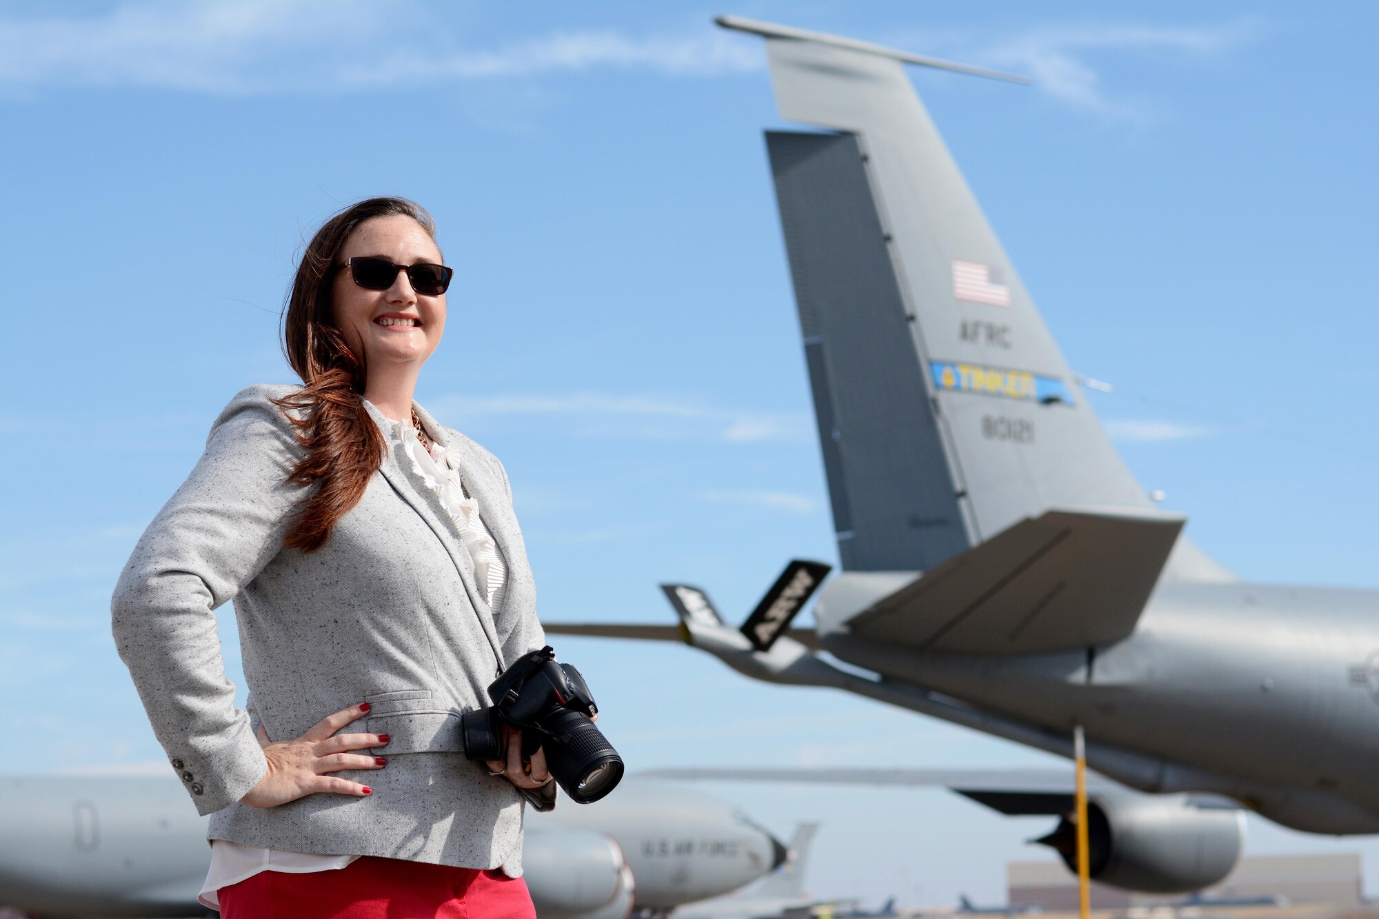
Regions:
M 1098 796 L 1087 802 L 1092 880 L 1145 893 L 1187 893 L 1230 873 L 1245 836 L 1238 810 L 1196 807 L 1168 798 Z M 1077 872 L 1077 824 L 1063 817 L 1038 839 Z

